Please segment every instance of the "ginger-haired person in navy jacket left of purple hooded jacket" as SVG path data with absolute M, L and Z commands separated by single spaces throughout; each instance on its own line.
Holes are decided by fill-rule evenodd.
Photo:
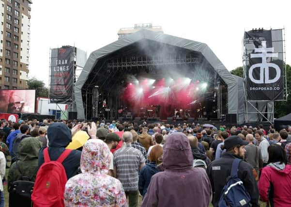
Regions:
M 161 158 L 163 154 L 163 147 L 160 145 L 153 146 L 150 155 L 149 161 L 146 166 L 144 166 L 139 174 L 138 179 L 138 190 L 140 194 L 144 197 L 148 186 L 151 182 L 151 178 L 154 174 L 158 173 L 157 165 L 161 163 Z

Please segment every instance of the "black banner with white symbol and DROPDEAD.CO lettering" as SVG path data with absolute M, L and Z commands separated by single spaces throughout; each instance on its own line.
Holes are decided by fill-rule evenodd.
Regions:
M 245 32 L 247 100 L 282 100 L 282 30 Z

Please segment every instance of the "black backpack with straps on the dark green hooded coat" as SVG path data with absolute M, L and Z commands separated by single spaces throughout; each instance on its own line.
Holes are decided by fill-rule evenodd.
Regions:
M 15 164 L 20 175 L 22 175 L 17 161 Z M 34 182 L 31 182 L 31 180 L 37 171 L 38 167 L 31 177 L 21 176 L 19 180 L 11 182 L 8 189 L 9 207 L 32 207 L 31 193 L 33 191 Z

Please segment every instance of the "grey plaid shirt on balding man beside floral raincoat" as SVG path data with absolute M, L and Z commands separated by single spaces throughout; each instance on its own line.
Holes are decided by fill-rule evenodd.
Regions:
M 117 179 L 123 184 L 124 191 L 138 190 L 139 166 L 145 163 L 142 153 L 126 144 L 114 152 L 113 165 L 116 167 Z

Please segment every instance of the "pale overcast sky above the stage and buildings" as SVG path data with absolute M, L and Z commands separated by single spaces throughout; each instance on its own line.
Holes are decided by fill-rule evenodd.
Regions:
M 206 43 L 228 70 L 242 65 L 244 31 L 285 26 L 291 64 L 290 8 L 288 0 L 33 0 L 29 76 L 48 85 L 49 48 L 75 44 L 89 57 L 137 23 Z

